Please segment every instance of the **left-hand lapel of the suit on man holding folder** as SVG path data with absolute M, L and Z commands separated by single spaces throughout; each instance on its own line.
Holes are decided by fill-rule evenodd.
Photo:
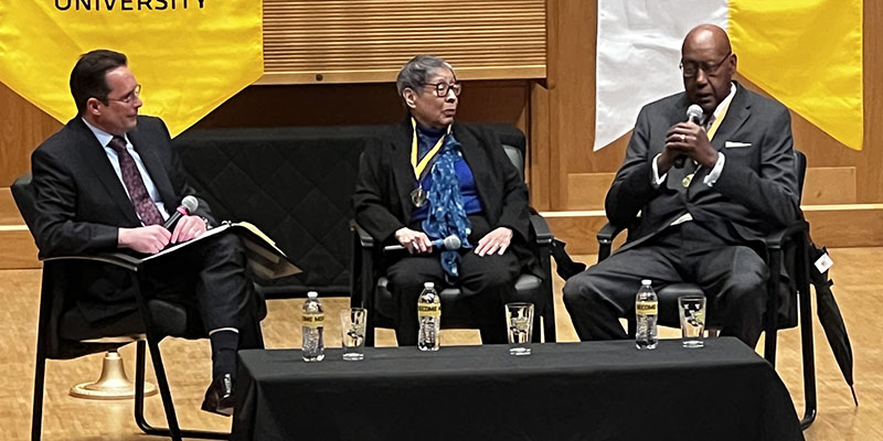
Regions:
M 95 173 L 98 182 L 102 183 L 110 198 L 116 202 L 126 220 L 130 225 L 140 225 L 141 222 L 135 213 L 135 205 L 131 204 L 129 195 L 126 193 L 126 187 L 123 186 L 119 176 L 110 165 L 110 160 L 107 158 L 104 146 L 98 142 L 95 133 L 78 117 L 71 122 L 71 128 L 78 138 L 75 146 L 78 146 L 77 148 L 81 151 L 77 154 L 82 155 L 85 162 L 89 164 L 89 169 Z

